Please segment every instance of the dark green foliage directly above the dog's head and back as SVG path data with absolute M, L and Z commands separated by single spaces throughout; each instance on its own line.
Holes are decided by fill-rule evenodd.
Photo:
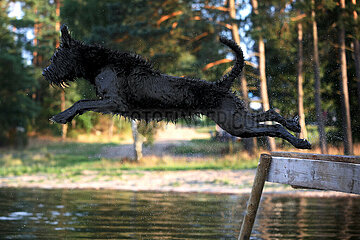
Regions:
M 223 28 L 208 21 L 215 14 L 201 10 L 193 9 L 193 1 L 65 0 L 61 16 L 64 22 L 69 20 L 70 29 L 81 39 L 141 54 L 168 74 L 209 74 L 208 79 L 214 81 L 225 66 L 214 68 L 216 76 L 214 69 L 205 73 L 200 70 L 206 63 L 224 57 L 219 51 L 224 47 L 216 41 Z M 164 16 L 170 17 L 164 20 Z M 195 17 L 197 20 L 192 19 Z M 204 37 L 196 40 L 203 33 Z

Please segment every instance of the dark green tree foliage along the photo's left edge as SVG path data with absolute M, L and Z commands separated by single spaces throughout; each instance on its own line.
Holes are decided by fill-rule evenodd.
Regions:
M 1 2 L 6 9 L 7 2 Z M 31 98 L 36 82 L 21 57 L 21 42 L 9 31 L 5 12 L 0 13 L 0 145 L 26 144 L 26 132 L 38 106 Z

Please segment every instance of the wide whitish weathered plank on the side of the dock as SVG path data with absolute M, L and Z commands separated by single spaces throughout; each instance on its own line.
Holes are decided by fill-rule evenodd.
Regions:
M 360 194 L 360 164 L 273 156 L 266 180 Z

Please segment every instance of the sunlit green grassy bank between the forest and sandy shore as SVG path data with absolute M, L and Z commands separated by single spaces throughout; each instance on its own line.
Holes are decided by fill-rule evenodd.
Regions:
M 213 148 L 211 148 L 211 145 Z M 121 175 L 122 170 L 176 171 L 199 169 L 247 169 L 257 165 L 257 159 L 245 159 L 239 154 L 223 155 L 223 145 L 201 141 L 180 146 L 169 151 L 191 154 L 203 151 L 206 146 L 217 149 L 210 155 L 198 158 L 176 157 L 144 157 L 138 163 L 128 159 L 107 159 L 99 154 L 104 147 L 116 146 L 105 143 L 78 142 L 43 142 L 24 150 L 2 149 L 0 151 L 0 176 L 19 176 L 32 174 L 55 174 L 62 176 L 79 176 L 87 171 L 99 175 Z M 194 150 L 195 149 L 195 150 Z

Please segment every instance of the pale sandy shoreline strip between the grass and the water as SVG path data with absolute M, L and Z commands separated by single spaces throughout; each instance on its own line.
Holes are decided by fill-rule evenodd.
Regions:
M 52 174 L 1 177 L 0 188 L 116 190 L 132 192 L 168 192 L 203 194 L 250 194 L 255 169 L 251 170 L 124 170 L 119 176 L 99 176 L 83 172 L 76 178 L 59 178 Z M 265 183 L 264 195 L 304 197 L 360 197 L 356 194 Z

